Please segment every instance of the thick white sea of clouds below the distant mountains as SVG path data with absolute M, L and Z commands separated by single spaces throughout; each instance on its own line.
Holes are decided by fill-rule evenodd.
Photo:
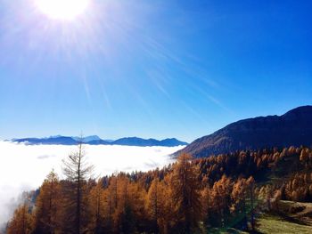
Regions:
M 172 162 L 178 147 L 86 145 L 86 159 L 94 165 L 94 177 L 118 171 L 148 171 Z M 35 190 L 54 169 L 62 179 L 62 159 L 77 146 L 25 145 L 0 141 L 0 228 L 12 216 L 23 191 Z

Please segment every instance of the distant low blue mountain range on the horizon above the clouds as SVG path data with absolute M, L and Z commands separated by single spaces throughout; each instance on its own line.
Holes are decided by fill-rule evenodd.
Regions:
M 60 144 L 60 145 L 76 145 L 80 140 L 79 137 L 70 137 L 70 136 L 50 136 L 47 138 L 22 138 L 22 139 L 12 139 L 12 142 L 23 142 L 29 145 L 36 144 Z M 84 143 L 89 145 L 127 145 L 127 146 L 179 146 L 179 145 L 187 145 L 184 141 L 178 141 L 176 138 L 170 138 L 165 140 L 155 140 L 155 139 L 142 139 L 138 137 L 125 137 L 120 138 L 116 141 L 106 141 L 102 140 L 100 137 L 96 135 L 86 136 L 82 140 Z

